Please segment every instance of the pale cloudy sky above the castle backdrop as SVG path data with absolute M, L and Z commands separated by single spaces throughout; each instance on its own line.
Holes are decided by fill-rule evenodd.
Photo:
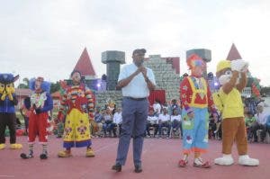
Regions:
M 188 72 L 188 49 L 211 49 L 215 73 L 232 43 L 252 76 L 270 86 L 268 0 L 0 0 L 0 73 L 67 79 L 83 49 L 98 77 L 106 73 L 101 53 L 133 49 L 180 57 Z M 17 83 L 19 83 L 17 82 Z

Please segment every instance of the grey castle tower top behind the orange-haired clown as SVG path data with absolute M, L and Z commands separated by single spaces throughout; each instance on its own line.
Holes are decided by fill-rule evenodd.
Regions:
M 186 59 L 189 58 L 190 55 L 196 54 L 201 57 L 206 63 L 211 62 L 211 50 L 210 49 L 189 49 L 186 51 Z M 207 78 L 207 69 L 203 72 L 203 76 Z

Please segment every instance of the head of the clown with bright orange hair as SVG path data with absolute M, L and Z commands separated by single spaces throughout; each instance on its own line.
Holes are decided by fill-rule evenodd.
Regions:
M 205 71 L 205 61 L 199 56 L 192 54 L 186 59 L 186 64 L 191 70 L 191 75 L 195 77 L 202 77 L 203 71 Z

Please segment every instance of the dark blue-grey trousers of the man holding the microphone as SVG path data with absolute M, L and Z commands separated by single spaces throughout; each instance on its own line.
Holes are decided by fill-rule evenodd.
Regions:
M 141 151 L 148 118 L 148 100 L 147 98 L 135 100 L 124 97 L 121 107 L 121 136 L 118 144 L 116 164 L 124 166 L 130 147 L 130 138 L 132 136 L 133 162 L 135 166 L 138 166 L 141 165 Z

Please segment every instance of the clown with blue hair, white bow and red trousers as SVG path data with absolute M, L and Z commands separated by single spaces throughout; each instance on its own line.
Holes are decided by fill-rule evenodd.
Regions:
M 29 154 L 21 154 L 23 159 L 33 157 L 33 145 L 36 136 L 39 136 L 40 144 L 42 145 L 42 153 L 40 159 L 48 157 L 48 119 L 49 112 L 53 108 L 53 102 L 49 94 L 50 83 L 44 81 L 43 77 L 32 78 L 29 82 L 29 87 L 32 91 L 30 97 L 30 115 L 29 115 L 29 132 L 28 144 Z

